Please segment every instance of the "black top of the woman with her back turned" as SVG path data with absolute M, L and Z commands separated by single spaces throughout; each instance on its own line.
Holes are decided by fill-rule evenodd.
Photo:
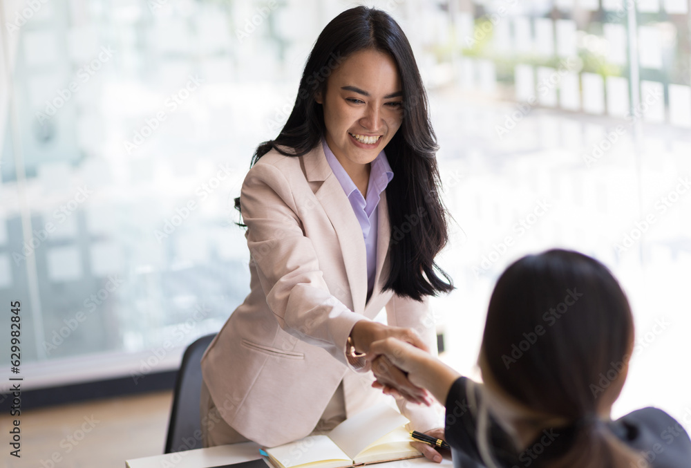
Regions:
M 477 446 L 477 406 L 475 395 L 466 393 L 466 377 L 453 382 L 446 397 L 446 441 L 451 445 L 455 468 L 482 468 L 485 465 Z M 468 397 L 470 396 L 470 398 Z M 644 408 L 606 423 L 618 438 L 634 451 L 643 452 L 651 468 L 690 468 L 691 440 L 684 428 L 661 409 Z M 489 445 L 494 460 L 504 468 L 529 467 L 558 458 L 573 441 L 574 427 L 545 429 L 522 453 L 509 435 L 489 415 Z

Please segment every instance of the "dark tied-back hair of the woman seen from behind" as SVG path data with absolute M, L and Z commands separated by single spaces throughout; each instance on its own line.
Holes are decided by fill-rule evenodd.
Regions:
M 629 467 L 628 449 L 598 414 L 623 386 L 634 321 L 611 272 L 589 256 L 549 250 L 507 268 L 492 293 L 482 337 L 483 376 L 519 402 L 539 424 L 544 415 L 575 431 L 558 459 L 540 467 Z

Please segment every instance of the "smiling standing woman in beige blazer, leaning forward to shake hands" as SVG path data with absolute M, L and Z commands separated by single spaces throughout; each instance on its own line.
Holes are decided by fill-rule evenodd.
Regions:
M 363 378 L 370 343 L 436 349 L 428 297 L 453 290 L 435 263 L 448 239 L 436 151 L 400 26 L 373 8 L 342 12 L 236 200 L 251 292 L 202 358 L 205 446 L 271 447 L 330 429 L 378 397 Z M 388 325 L 373 320 L 382 308 Z M 410 429 L 440 436 L 426 391 L 392 378 L 413 401 L 397 400 Z

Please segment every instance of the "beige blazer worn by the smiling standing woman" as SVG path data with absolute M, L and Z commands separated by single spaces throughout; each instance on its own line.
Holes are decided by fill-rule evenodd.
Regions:
M 381 292 L 390 237 L 384 194 L 375 288 L 366 297 L 361 227 L 321 144 L 301 157 L 269 151 L 247 173 L 240 200 L 251 292 L 202 357 L 202 375 L 223 419 L 273 447 L 307 436 L 341 380 L 348 415 L 381 395 L 371 373 L 356 373 L 345 358 L 357 321 L 386 308 L 388 324 L 415 328 L 436 353 L 435 326 L 427 300 Z M 430 408 L 399 408 L 413 429 L 440 426 Z

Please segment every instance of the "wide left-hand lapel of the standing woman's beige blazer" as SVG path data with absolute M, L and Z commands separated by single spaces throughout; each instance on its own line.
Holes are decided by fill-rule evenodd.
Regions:
M 322 181 L 314 195 L 336 230 L 345 272 L 348 275 L 353 311 L 362 314 L 365 310 L 367 294 L 367 253 L 360 223 L 352 211 L 343 187 L 326 160 L 321 144 L 303 156 L 303 163 L 305 176 L 309 182 Z M 388 220 L 388 216 L 386 219 Z M 379 225 L 381 226 L 381 221 Z M 377 241 L 377 250 L 379 250 L 379 241 Z M 377 252 L 377 265 L 379 265 L 379 252 Z

